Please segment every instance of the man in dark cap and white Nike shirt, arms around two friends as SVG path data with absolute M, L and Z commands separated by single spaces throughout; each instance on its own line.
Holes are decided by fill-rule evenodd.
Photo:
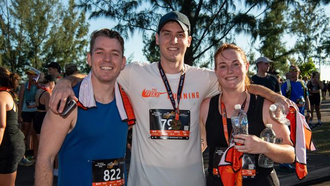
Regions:
M 205 98 L 218 94 L 219 84 L 214 71 L 184 64 L 190 35 L 187 16 L 177 11 L 163 15 L 155 36 L 160 61 L 130 63 L 117 78 L 138 123 L 133 126 L 128 185 L 205 185 L 199 110 Z M 60 100 L 75 98 L 71 88 L 75 81 L 70 77 L 58 82 L 50 101 L 52 111 L 57 112 L 53 104 Z M 252 90 L 289 105 L 266 88 L 254 85 Z

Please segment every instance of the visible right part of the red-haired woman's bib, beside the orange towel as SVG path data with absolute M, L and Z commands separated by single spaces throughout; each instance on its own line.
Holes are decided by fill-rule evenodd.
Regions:
M 242 159 L 242 176 L 243 179 L 255 178 L 255 154 L 244 153 Z

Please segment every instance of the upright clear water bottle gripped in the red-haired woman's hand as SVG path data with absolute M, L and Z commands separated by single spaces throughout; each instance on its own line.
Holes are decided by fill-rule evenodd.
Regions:
M 244 110 L 241 109 L 241 105 L 235 105 L 235 111 L 232 114 L 232 126 L 233 134 L 249 134 L 248 132 L 248 120 Z

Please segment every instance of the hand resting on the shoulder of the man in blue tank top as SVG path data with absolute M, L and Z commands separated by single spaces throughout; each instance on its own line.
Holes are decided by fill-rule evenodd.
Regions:
M 49 100 L 49 108 L 56 114 L 62 113 L 68 97 L 78 101 L 71 87 L 71 81 L 64 78 L 60 79 L 52 91 L 52 96 Z M 57 105 L 59 102 L 61 103 L 57 112 Z

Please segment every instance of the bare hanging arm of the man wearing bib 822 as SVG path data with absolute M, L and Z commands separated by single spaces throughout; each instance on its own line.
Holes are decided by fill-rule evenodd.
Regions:
M 40 134 L 35 185 L 53 185 L 53 164 L 56 154 L 77 120 L 77 108 L 67 118 L 48 110 Z

